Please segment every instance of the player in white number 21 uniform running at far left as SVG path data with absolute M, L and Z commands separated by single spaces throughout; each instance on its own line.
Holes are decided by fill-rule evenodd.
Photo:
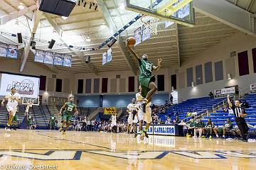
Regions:
M 11 130 L 12 120 L 14 118 L 14 115 L 16 114 L 18 102 L 21 102 L 21 96 L 18 93 L 16 93 L 16 89 L 13 87 L 11 88 L 11 93 L 7 94 L 4 97 L 4 100 L 1 102 L 1 106 L 4 106 L 4 101 L 6 100 L 8 100 L 6 108 L 9 112 L 9 120 L 6 125 L 6 130 Z

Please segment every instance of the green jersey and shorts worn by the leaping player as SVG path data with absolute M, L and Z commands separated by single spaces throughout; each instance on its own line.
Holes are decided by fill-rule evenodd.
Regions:
M 139 84 L 142 86 L 142 96 L 146 97 L 146 94 L 150 91 L 149 83 L 154 82 L 155 78 L 152 75 L 154 65 L 147 60 L 138 60 L 139 62 Z

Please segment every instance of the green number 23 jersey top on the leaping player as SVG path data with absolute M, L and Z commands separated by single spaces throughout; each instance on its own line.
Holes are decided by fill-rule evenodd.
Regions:
M 138 60 L 139 62 L 139 78 L 140 77 L 151 77 L 153 64 L 146 60 Z

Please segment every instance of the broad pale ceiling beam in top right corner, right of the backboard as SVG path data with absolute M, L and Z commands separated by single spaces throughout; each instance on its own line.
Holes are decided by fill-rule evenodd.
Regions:
M 256 21 L 252 17 L 252 13 L 238 6 L 234 6 L 228 1 L 193 0 L 193 7 L 196 8 L 196 11 L 238 29 L 243 33 L 255 35 Z

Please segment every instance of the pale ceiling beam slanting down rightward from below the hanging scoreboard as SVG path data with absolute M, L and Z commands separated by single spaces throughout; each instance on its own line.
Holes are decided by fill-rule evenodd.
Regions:
M 63 44 L 68 47 L 69 45 L 65 42 L 65 40 L 63 40 L 63 33 L 64 31 L 57 25 L 57 23 L 55 23 L 55 21 L 53 21 L 52 18 L 50 18 L 50 16 L 47 13 L 44 13 L 44 16 L 46 16 L 46 19 L 48 20 L 48 22 L 50 23 L 51 26 L 53 26 L 53 28 L 56 30 L 56 32 L 59 35 L 60 40 L 63 42 Z M 94 74 L 99 75 L 99 73 L 97 72 L 97 69 L 92 65 L 92 63 L 85 63 L 85 57 L 82 54 L 82 52 L 80 52 L 77 49 L 74 48 L 68 48 L 70 51 L 74 52 L 75 55 L 78 55 L 79 59 L 81 60 L 81 62 L 85 65 L 85 67 L 87 67 L 87 69 L 90 69 L 90 71 L 92 71 Z

